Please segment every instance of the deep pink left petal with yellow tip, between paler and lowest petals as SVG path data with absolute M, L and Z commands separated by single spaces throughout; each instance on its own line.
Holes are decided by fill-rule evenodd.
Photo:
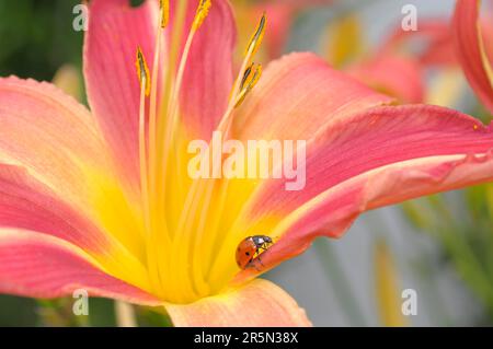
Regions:
M 133 251 L 25 168 L 0 164 L 1 229 L 26 230 L 65 241 L 83 249 L 112 275 L 149 289 L 147 271 Z

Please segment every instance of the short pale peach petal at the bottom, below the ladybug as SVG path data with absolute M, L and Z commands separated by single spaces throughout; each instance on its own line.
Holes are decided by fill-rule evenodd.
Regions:
M 175 326 L 306 327 L 310 321 L 296 301 L 271 281 L 256 279 L 186 305 L 167 304 Z

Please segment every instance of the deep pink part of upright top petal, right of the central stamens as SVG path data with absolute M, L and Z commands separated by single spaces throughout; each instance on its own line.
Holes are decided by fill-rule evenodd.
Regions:
M 182 44 L 188 35 L 197 5 L 198 0 L 188 1 Z M 229 2 L 213 1 L 209 14 L 195 34 L 181 89 L 182 117 L 192 138 L 209 139 L 226 112 L 233 83 L 236 36 Z

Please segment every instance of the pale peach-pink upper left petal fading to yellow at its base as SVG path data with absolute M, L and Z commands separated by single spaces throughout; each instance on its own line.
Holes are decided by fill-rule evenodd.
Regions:
M 25 168 L 31 183 L 139 258 L 141 208 L 106 150 L 94 119 L 72 97 L 46 82 L 0 79 L 0 163 Z

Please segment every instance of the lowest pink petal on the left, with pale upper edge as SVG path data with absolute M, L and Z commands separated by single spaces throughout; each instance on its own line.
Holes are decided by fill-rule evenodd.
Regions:
M 0 230 L 0 293 L 51 299 L 84 289 L 145 305 L 160 301 L 98 267 L 78 247 L 53 236 Z

